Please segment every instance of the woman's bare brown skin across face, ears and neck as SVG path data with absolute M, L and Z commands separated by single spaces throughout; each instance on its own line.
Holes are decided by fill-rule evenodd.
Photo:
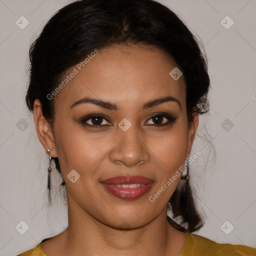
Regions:
M 154 46 L 114 45 L 99 50 L 54 96 L 53 127 L 43 117 L 40 101 L 34 101 L 38 138 L 45 152 L 49 148 L 58 157 L 67 190 L 68 227 L 41 244 L 46 255 L 179 255 L 186 234 L 167 222 L 166 212 L 180 176 L 154 202 L 148 199 L 189 156 L 198 125 L 197 113 L 187 122 L 184 78 L 169 75 L 175 66 Z M 70 108 L 84 96 L 115 103 L 119 110 L 91 103 Z M 180 108 L 174 101 L 141 108 L 164 96 L 178 99 Z M 158 112 L 176 121 L 152 126 L 157 124 L 152 114 Z M 79 123 L 93 113 L 105 115 L 109 121 L 98 123 L 110 125 Z M 126 131 L 118 127 L 123 118 L 131 123 Z M 158 123 L 166 122 L 163 117 Z M 80 174 L 74 183 L 67 178 L 72 169 Z M 141 175 L 154 182 L 140 198 L 123 200 L 100 183 L 118 175 Z

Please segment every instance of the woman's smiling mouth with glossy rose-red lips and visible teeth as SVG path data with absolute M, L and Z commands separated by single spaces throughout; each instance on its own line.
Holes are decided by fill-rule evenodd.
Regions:
M 101 184 L 119 199 L 134 200 L 149 190 L 153 180 L 143 176 L 117 176 L 102 180 Z

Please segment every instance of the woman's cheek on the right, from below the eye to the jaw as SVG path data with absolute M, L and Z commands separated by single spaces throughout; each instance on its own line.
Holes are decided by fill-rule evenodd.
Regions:
M 150 194 L 153 198 L 150 198 L 155 199 L 156 204 L 162 204 L 171 197 L 182 175 L 187 148 L 186 126 L 180 122 L 166 131 L 164 137 L 161 135 L 158 140 L 152 137 L 150 141 L 149 148 L 155 155 L 158 169 L 155 187 Z M 158 197 L 160 199 L 156 200 Z

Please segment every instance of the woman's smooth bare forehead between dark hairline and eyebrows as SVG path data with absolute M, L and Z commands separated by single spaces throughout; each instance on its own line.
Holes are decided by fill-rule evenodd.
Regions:
M 185 100 L 183 76 L 174 80 L 169 75 L 176 67 L 174 60 L 154 46 L 113 45 L 89 54 L 84 60 L 66 72 L 69 79 L 54 97 L 56 108 L 71 106 L 84 96 L 124 108 L 165 95 L 178 98 L 181 104 Z M 62 81 L 67 79 L 66 75 Z

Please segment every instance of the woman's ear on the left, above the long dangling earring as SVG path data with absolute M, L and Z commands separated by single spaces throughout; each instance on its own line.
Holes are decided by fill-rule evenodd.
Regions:
M 44 151 L 47 153 L 47 149 L 49 148 L 50 156 L 57 157 L 53 131 L 49 122 L 44 118 L 42 114 L 41 102 L 38 98 L 34 100 L 33 113 L 36 133 L 44 148 Z

